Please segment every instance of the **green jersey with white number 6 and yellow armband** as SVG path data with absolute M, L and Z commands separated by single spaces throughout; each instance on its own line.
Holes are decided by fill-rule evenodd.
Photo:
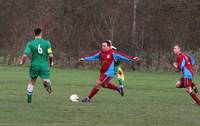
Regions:
M 31 66 L 49 67 L 48 55 L 52 53 L 49 41 L 36 38 L 27 43 L 24 53 L 32 55 Z

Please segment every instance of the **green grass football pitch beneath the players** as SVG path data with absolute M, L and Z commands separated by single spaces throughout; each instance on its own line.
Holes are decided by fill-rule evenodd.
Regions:
M 51 75 L 53 94 L 38 80 L 33 103 L 27 104 L 28 68 L 0 67 L 0 126 L 200 125 L 200 107 L 175 88 L 178 74 L 126 72 L 124 97 L 102 89 L 89 104 L 68 97 L 86 96 L 98 70 L 53 69 Z

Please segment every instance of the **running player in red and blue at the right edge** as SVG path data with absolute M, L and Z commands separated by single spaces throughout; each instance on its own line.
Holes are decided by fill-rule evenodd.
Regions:
M 194 76 L 193 63 L 187 54 L 181 52 L 179 45 L 174 46 L 174 53 L 177 55 L 177 63 L 174 67 L 183 73 L 183 77 L 176 83 L 177 88 L 186 88 L 186 92 L 192 97 L 197 105 L 200 105 L 200 99 L 197 96 L 197 88 L 192 82 Z

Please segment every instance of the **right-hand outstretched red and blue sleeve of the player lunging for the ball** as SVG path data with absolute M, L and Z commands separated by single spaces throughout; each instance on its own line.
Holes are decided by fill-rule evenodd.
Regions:
M 113 57 L 115 60 L 120 60 L 120 61 L 133 61 L 132 56 L 128 56 L 124 53 L 118 52 L 118 51 L 113 51 Z

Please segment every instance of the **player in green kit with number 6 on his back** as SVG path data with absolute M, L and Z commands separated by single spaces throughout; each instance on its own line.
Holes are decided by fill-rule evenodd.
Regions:
M 27 102 L 32 102 L 33 87 L 39 76 L 48 93 L 52 92 L 50 81 L 50 67 L 53 66 L 53 54 L 49 41 L 42 38 L 42 30 L 34 30 L 35 39 L 27 43 L 24 54 L 20 60 L 23 65 L 28 56 L 31 55 L 31 65 L 29 68 L 30 82 L 27 85 Z

